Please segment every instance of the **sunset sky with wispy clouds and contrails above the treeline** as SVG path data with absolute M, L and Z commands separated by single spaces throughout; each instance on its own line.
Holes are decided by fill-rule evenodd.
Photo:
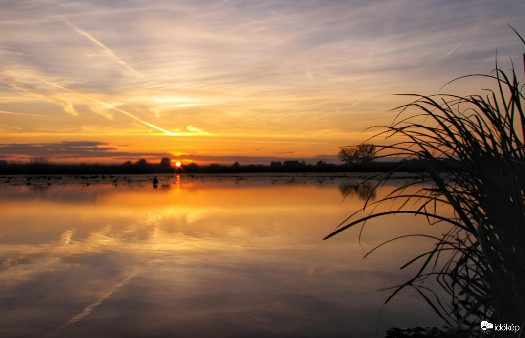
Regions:
M 525 52 L 505 0 L 0 0 L 0 159 L 338 163 Z M 522 79 L 522 77 L 521 77 Z M 480 79 L 442 93 L 480 93 Z M 375 141 L 380 144 L 381 140 Z

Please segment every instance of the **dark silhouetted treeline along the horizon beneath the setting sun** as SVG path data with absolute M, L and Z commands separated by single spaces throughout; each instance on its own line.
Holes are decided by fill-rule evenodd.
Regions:
M 306 164 L 304 161 L 271 162 L 270 165 L 198 165 L 190 163 L 180 167 L 162 159 L 160 164 L 146 160 L 123 164 L 54 164 L 54 163 L 9 163 L 0 160 L 0 175 L 63 175 L 63 174 L 226 174 L 226 173 L 337 173 L 337 172 L 423 172 L 424 163 L 418 160 L 398 162 L 369 162 L 362 164 L 331 164 L 323 161 Z

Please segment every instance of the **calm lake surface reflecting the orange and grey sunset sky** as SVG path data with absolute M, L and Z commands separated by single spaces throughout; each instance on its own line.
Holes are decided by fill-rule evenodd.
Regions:
M 323 241 L 363 199 L 342 202 L 355 178 L 303 176 L 0 188 L 0 336 L 381 337 L 440 325 L 415 291 L 384 307 L 390 293 L 376 291 L 411 277 L 398 267 L 432 240 L 363 256 L 395 236 L 446 229 L 384 218 L 361 243 L 359 228 Z

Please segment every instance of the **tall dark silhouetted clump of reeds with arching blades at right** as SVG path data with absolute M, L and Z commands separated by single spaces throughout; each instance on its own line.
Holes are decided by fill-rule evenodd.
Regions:
M 398 108 L 400 114 L 411 108 L 419 113 L 386 127 L 386 138 L 403 136 L 405 141 L 377 146 L 377 157 L 415 158 L 426 166 L 426 172 L 385 198 L 365 203 L 363 209 L 387 200 L 402 200 L 401 207 L 351 220 L 355 213 L 325 239 L 384 215 L 414 214 L 427 217 L 429 223 L 446 222 L 451 228 L 442 238 L 435 238 L 433 249 L 402 267 L 421 262 L 414 278 L 396 287 L 388 300 L 410 286 L 450 326 L 479 328 L 482 320 L 488 320 L 523 328 L 525 100 L 514 67 L 505 72 L 496 62 L 490 75 L 475 76 L 492 79 L 496 89 L 484 96 L 413 95 L 415 101 Z M 423 122 L 418 122 L 422 117 Z M 382 176 L 377 186 L 391 175 Z M 407 189 L 411 186 L 418 187 L 417 193 Z M 408 203 L 411 201 L 418 203 Z M 453 218 L 440 214 L 436 208 L 440 203 L 454 209 Z M 423 287 L 422 281 L 429 277 L 437 278 L 450 302 L 442 302 Z

